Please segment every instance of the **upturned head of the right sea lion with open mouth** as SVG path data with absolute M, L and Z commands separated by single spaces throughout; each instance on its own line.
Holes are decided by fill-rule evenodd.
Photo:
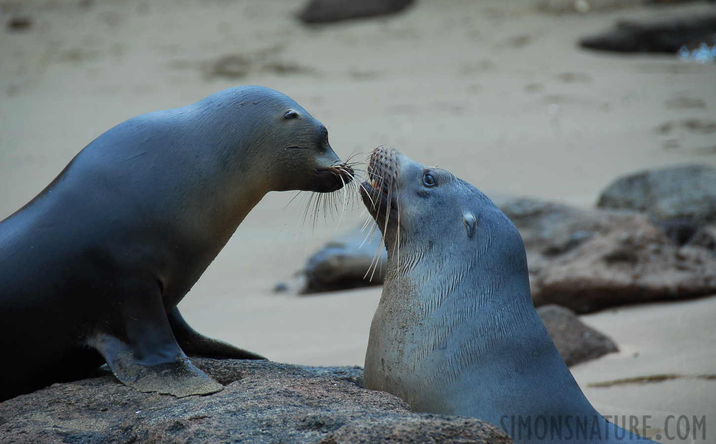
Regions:
M 383 233 L 389 267 L 395 251 L 405 252 L 406 258 L 430 254 L 435 259 L 475 252 L 487 260 L 515 254 L 516 263 L 525 261 L 513 223 L 480 190 L 449 171 L 422 165 L 383 145 L 372 153 L 367 172 L 361 195 Z M 500 248 L 489 248 L 495 238 Z

